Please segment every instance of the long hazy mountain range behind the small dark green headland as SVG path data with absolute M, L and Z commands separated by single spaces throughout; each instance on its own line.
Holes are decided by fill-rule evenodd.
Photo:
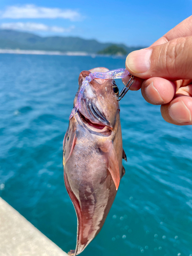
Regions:
M 0 49 L 97 53 L 112 45 L 110 42 L 101 43 L 94 39 L 87 40 L 80 37 L 41 37 L 27 32 L 0 30 Z M 123 44 L 117 46 L 122 47 L 127 53 L 143 48 L 127 47 Z

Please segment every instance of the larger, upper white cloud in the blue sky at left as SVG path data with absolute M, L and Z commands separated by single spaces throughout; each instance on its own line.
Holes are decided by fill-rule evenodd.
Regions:
M 64 18 L 79 20 L 82 16 L 79 12 L 70 9 L 22 5 L 8 6 L 4 11 L 0 12 L 0 18 Z

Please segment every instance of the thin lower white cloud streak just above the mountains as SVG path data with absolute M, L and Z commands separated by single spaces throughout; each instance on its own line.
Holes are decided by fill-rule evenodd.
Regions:
M 57 26 L 47 26 L 41 23 L 2 23 L 0 29 L 22 30 L 22 31 L 51 31 L 57 33 L 71 32 L 75 27 L 62 28 Z

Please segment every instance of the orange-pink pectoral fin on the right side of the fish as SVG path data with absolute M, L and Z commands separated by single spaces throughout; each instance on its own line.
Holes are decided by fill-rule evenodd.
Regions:
M 105 142 L 100 149 L 105 153 L 108 169 L 111 173 L 112 179 L 115 183 L 116 190 L 119 187 L 120 175 L 119 175 L 119 162 L 115 153 L 115 148 L 112 141 Z

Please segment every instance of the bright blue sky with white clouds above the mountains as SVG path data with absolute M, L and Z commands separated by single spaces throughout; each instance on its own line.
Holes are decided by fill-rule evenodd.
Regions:
M 150 46 L 192 14 L 192 0 L 1 0 L 0 29 Z

